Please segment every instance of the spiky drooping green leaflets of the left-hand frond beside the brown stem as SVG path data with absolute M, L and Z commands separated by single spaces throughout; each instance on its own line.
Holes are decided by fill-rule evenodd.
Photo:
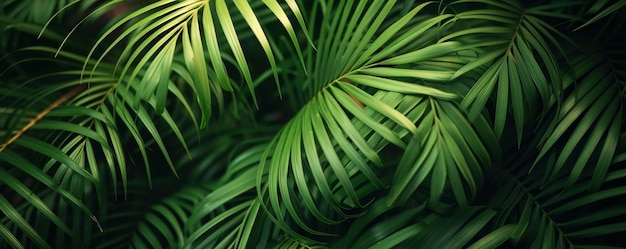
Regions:
M 39 51 L 43 53 L 54 52 L 53 49 L 46 48 L 46 47 L 33 47 L 33 48 L 29 48 L 28 50 Z M 78 66 L 78 68 L 80 68 L 80 66 L 79 64 L 76 64 L 76 62 L 82 62 L 85 60 L 84 57 L 78 56 L 76 54 L 61 52 L 60 55 L 67 59 L 66 62 L 68 63 L 68 65 Z M 119 128 L 117 128 L 117 124 L 116 124 L 118 118 L 121 119 L 122 123 L 125 124 L 126 127 L 131 131 L 131 134 L 133 134 L 135 141 L 138 143 L 139 150 L 141 154 L 143 155 L 144 165 L 146 166 L 146 171 L 148 175 L 150 175 L 149 162 L 148 162 L 148 157 L 147 157 L 146 148 L 145 148 L 146 146 L 144 145 L 146 142 L 144 141 L 143 137 L 140 135 L 140 127 L 137 126 L 135 122 L 136 121 L 135 117 L 137 117 L 138 120 L 141 121 L 140 124 L 143 125 L 143 127 L 141 128 L 145 127 L 148 130 L 149 134 L 154 139 L 154 141 L 156 142 L 161 152 L 163 152 L 164 158 L 166 159 L 166 161 L 168 162 L 168 164 L 174 171 L 173 163 L 171 159 L 169 158 L 169 153 L 167 152 L 167 148 L 165 147 L 165 144 L 162 141 L 160 132 L 157 130 L 155 122 L 152 120 L 152 117 L 149 114 L 149 110 L 154 110 L 154 109 L 164 107 L 163 103 L 161 102 L 164 102 L 165 100 L 158 99 L 156 97 L 157 94 L 162 94 L 160 92 L 163 90 L 155 91 L 155 92 L 148 94 L 145 97 L 147 105 L 138 106 L 136 109 L 126 108 L 125 106 L 127 106 L 127 104 L 125 103 L 132 103 L 132 99 L 135 98 L 136 95 L 139 95 L 139 94 L 145 95 L 145 93 L 139 90 L 135 90 L 134 88 L 127 89 L 127 87 L 124 84 L 115 83 L 115 78 L 109 76 L 111 75 L 110 71 L 109 72 L 106 71 L 106 69 L 112 69 L 113 68 L 112 66 L 107 66 L 101 63 L 100 68 L 103 71 L 102 72 L 94 71 L 94 73 L 92 74 L 92 77 L 90 78 L 89 87 L 85 90 L 81 90 L 82 92 L 80 92 L 80 94 L 78 94 L 78 96 L 72 100 L 73 102 L 70 103 L 71 105 L 73 105 L 73 103 L 76 103 L 77 105 L 84 106 L 86 108 L 81 109 L 81 108 L 70 107 L 71 109 L 66 109 L 66 110 L 71 110 L 69 114 L 66 112 L 63 114 L 53 113 L 52 115 L 52 117 L 54 116 L 63 117 L 63 116 L 75 116 L 75 115 L 83 114 L 83 115 L 86 115 L 86 119 L 79 120 L 75 118 L 74 120 L 70 120 L 68 123 L 65 123 L 67 125 L 63 125 L 64 123 L 57 122 L 56 125 L 54 126 L 46 125 L 46 123 L 44 122 L 43 126 L 42 124 L 37 124 L 33 129 L 46 129 L 46 130 L 55 130 L 55 131 L 66 130 L 66 132 L 73 133 L 80 137 L 93 139 L 94 141 L 98 142 L 98 144 L 100 144 L 103 153 L 105 153 L 107 162 L 109 163 L 110 172 L 113 175 L 115 174 L 114 172 L 116 170 L 114 169 L 114 165 L 118 165 L 119 169 L 121 169 L 120 172 L 122 176 L 122 183 L 125 184 L 126 161 L 124 160 L 125 155 L 124 155 L 124 152 L 122 151 L 122 146 L 120 143 L 121 140 L 119 138 Z M 75 77 L 74 79 L 70 79 L 60 84 L 60 86 L 61 87 L 64 87 L 64 86 L 78 87 L 82 85 L 83 88 L 81 89 L 84 89 L 83 82 L 79 80 L 80 75 L 81 75 L 80 70 L 61 71 L 61 72 L 56 72 L 56 73 L 52 73 L 49 75 L 43 75 L 42 77 L 34 78 L 33 80 L 29 80 L 24 84 L 25 85 L 34 84 L 37 80 L 46 80 L 48 78 L 62 79 L 62 77 L 69 77 L 69 78 Z M 168 82 L 170 81 L 168 80 Z M 192 110 L 189 107 L 189 103 L 184 98 L 182 98 L 178 87 L 176 87 L 176 85 L 173 85 L 173 84 L 167 84 L 166 86 L 167 86 L 167 89 L 165 89 L 165 93 L 171 92 L 174 95 L 176 95 L 180 103 L 183 106 L 185 106 L 185 108 L 189 111 L 189 113 L 191 113 Z M 54 90 L 55 89 L 52 89 L 52 91 Z M 52 94 L 53 93 L 52 91 L 46 94 L 48 95 Z M 66 107 L 62 107 L 62 108 L 66 108 Z M 87 108 L 90 108 L 90 109 L 87 109 Z M 169 111 L 167 110 L 162 111 L 160 113 L 160 117 L 163 119 L 163 121 L 165 121 L 165 123 L 167 124 L 167 127 L 172 129 L 176 137 L 180 139 L 179 141 L 183 142 L 183 148 L 186 149 L 187 147 L 186 147 L 186 144 L 184 143 L 184 140 L 182 140 L 183 137 L 182 137 L 182 134 L 180 133 L 180 129 L 178 128 L 178 125 L 173 121 L 171 115 L 169 114 Z M 63 122 L 67 122 L 67 121 L 63 121 Z M 71 129 L 71 131 L 68 129 L 68 127 L 80 127 L 80 126 L 85 127 L 85 128 Z M 56 141 L 72 142 L 72 144 L 64 145 L 65 146 L 65 149 L 63 149 L 65 150 L 64 152 L 68 155 L 70 154 L 74 154 L 75 156 L 84 155 L 83 153 L 79 153 L 78 151 L 84 151 L 84 148 L 85 148 L 84 143 L 86 140 L 76 140 L 76 139 L 67 138 L 66 135 L 67 135 L 66 133 L 60 132 L 60 133 L 57 133 L 56 138 L 54 138 Z M 61 140 L 61 138 L 63 139 Z M 59 145 L 59 147 L 62 147 L 62 146 Z M 66 162 L 69 163 L 69 161 L 67 160 Z M 84 162 L 86 163 L 87 161 L 84 161 Z M 72 164 L 70 163 L 69 165 L 72 165 Z M 97 175 L 98 172 L 94 171 L 93 174 Z M 115 176 L 113 177 L 115 178 Z

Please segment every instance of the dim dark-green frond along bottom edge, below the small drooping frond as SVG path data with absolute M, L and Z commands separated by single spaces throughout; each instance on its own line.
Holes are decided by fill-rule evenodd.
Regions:
M 498 248 L 515 228 L 509 224 L 489 230 L 497 212 L 483 207 L 458 209 L 450 215 L 429 213 L 425 208 L 425 204 L 391 208 L 384 201 L 373 203 L 332 248 Z

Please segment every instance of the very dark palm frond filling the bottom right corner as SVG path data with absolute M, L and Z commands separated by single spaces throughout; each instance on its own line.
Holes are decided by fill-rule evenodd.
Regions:
M 491 205 L 502 209 L 499 223 L 517 223 L 512 240 L 520 248 L 619 246 L 612 240 L 625 231 L 626 212 L 614 200 L 624 198 L 625 173 L 609 172 L 603 179 L 606 187 L 594 192 L 588 191 L 591 173 L 567 191 L 567 177 L 544 185 L 540 177 L 524 172 L 508 175 Z

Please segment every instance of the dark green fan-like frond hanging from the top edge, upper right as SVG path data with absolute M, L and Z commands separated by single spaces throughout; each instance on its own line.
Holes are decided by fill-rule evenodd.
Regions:
M 466 9 L 463 5 L 466 3 L 489 7 Z M 544 115 L 551 98 L 561 91 L 558 53 L 554 52 L 562 50 L 555 39 L 558 31 L 529 14 L 531 9 L 524 9 L 518 1 L 461 0 L 449 8 L 462 9 L 454 19 L 460 30 L 441 40 L 472 44 L 468 49 L 477 55 L 452 77 L 458 78 L 471 70 L 482 72 L 461 106 L 468 110 L 470 120 L 474 120 L 493 100 L 497 136 L 502 137 L 506 123 L 511 120 L 510 113 L 520 144 L 525 124 Z

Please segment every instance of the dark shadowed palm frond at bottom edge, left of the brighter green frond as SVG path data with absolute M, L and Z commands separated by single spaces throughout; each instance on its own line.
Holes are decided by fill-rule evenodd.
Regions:
M 131 189 L 137 191 L 143 186 L 145 183 L 133 183 Z M 129 195 L 137 198 L 110 207 L 102 220 L 104 232 L 98 234 L 92 242 L 96 246 L 94 248 L 182 247 L 189 235 L 184 230 L 185 222 L 194 205 L 210 190 L 206 184 L 202 186 L 200 183 L 187 182 L 172 193 L 155 196 L 157 192 L 167 193 L 172 188 L 131 192 Z M 142 206 L 146 210 L 136 212 Z

